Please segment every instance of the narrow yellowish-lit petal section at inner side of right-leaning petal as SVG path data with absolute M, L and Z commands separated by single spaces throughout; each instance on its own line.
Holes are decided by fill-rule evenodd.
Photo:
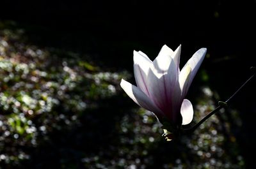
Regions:
M 189 64 L 184 67 L 179 74 L 179 85 L 181 91 L 181 98 L 184 99 L 188 92 L 189 79 L 191 76 L 191 67 Z

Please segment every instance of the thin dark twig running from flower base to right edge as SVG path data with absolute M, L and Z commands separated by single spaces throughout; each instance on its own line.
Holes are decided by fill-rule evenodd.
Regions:
M 251 70 L 255 71 L 255 67 L 252 67 Z M 214 110 L 212 110 L 212 112 L 210 112 L 209 114 L 205 115 L 205 117 L 203 119 L 201 119 L 198 123 L 195 124 L 195 126 L 188 128 L 188 129 L 184 129 L 184 133 L 193 133 L 193 131 L 195 131 L 196 128 L 198 128 L 204 121 L 206 121 L 207 119 L 209 119 L 209 117 L 211 117 L 213 114 L 215 114 L 216 112 L 218 112 L 221 108 L 225 108 L 227 107 L 227 103 L 230 101 L 230 99 L 234 98 L 234 96 L 236 96 L 237 92 L 241 91 L 241 89 L 244 87 L 244 85 L 246 85 L 250 80 L 252 80 L 253 77 L 255 77 L 256 71 L 253 73 L 253 75 L 248 78 L 248 80 L 246 80 L 246 82 L 244 82 L 243 85 L 241 85 L 241 87 L 239 87 L 239 89 L 237 89 L 236 92 L 234 92 L 234 94 L 232 94 L 232 96 L 230 96 L 230 98 L 227 99 L 227 101 L 219 101 L 219 106 L 216 107 Z

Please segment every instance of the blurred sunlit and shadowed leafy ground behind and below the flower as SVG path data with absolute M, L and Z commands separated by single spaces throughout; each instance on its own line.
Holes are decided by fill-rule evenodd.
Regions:
M 235 110 L 166 142 L 154 115 L 120 90 L 120 79 L 130 77 L 89 57 L 29 45 L 23 30 L 2 24 L 0 168 L 244 168 Z M 200 91 L 194 123 L 218 98 L 207 86 Z

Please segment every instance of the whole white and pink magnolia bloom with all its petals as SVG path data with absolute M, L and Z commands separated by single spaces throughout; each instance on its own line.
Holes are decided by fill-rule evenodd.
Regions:
M 137 87 L 124 79 L 120 84 L 135 103 L 153 112 L 160 122 L 168 121 L 175 128 L 193 119 L 193 106 L 184 98 L 206 53 L 206 48 L 200 48 L 180 70 L 180 47 L 173 51 L 164 45 L 154 61 L 134 50 Z

